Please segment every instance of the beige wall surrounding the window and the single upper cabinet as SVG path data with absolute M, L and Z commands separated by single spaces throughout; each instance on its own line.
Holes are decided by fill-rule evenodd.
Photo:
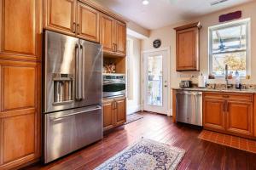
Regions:
M 177 23 L 172 26 L 166 26 L 157 30 L 150 32 L 148 39 L 143 40 L 142 50 L 152 49 L 152 42 L 154 39 L 160 38 L 162 41 L 162 48 L 170 47 L 171 55 L 169 56 L 171 60 L 171 87 L 178 87 L 178 83 L 181 79 L 188 78 L 190 75 L 195 77 L 200 73 L 208 75 L 208 27 L 218 25 L 218 16 L 220 14 L 227 14 L 234 12 L 236 10 L 242 11 L 242 18 L 251 18 L 251 64 L 256 63 L 256 2 L 246 3 L 235 8 L 229 8 L 222 11 L 218 11 L 213 14 L 207 14 L 195 20 L 187 20 Z M 176 31 L 173 30 L 174 27 L 183 26 L 187 23 L 193 23 L 195 21 L 200 21 L 202 24 L 202 29 L 200 32 L 200 72 L 177 72 L 176 71 Z M 193 79 L 196 82 L 196 79 Z M 223 80 L 215 80 L 216 82 L 222 82 Z M 252 66 L 251 79 L 243 80 L 243 83 L 256 83 L 256 67 Z M 170 94 L 172 95 L 172 94 Z M 172 98 L 171 98 L 172 99 Z

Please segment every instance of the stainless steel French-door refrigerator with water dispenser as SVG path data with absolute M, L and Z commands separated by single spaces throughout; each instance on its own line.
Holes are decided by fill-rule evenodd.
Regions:
M 102 139 L 102 45 L 44 31 L 44 163 Z

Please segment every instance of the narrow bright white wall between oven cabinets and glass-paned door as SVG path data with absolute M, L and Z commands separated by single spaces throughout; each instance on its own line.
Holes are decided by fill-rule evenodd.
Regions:
M 141 40 L 128 36 L 133 40 L 132 56 L 132 99 L 127 99 L 127 114 L 141 111 Z

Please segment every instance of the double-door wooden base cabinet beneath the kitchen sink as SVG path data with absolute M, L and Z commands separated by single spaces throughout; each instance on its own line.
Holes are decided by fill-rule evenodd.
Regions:
M 253 94 L 204 93 L 204 128 L 253 136 L 253 124 Z

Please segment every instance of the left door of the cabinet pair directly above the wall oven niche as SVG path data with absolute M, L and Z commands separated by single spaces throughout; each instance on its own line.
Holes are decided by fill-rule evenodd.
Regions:
M 101 43 L 103 51 L 113 54 L 115 48 L 115 20 L 107 15 L 101 16 Z

